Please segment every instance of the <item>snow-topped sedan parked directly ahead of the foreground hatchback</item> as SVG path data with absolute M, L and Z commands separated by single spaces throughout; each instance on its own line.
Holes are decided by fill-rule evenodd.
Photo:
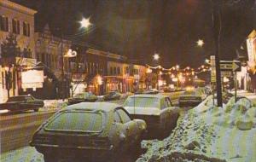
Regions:
M 131 118 L 145 120 L 148 131 L 159 133 L 157 136 L 166 136 L 177 123 L 177 107 L 172 107 L 167 95 L 131 95 L 123 107 Z

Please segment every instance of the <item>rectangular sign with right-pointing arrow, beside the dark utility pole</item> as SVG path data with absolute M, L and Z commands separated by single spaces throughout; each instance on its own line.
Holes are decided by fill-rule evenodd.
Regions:
M 238 72 L 241 71 L 241 62 L 240 61 L 220 61 L 220 70 L 229 71 L 229 72 Z

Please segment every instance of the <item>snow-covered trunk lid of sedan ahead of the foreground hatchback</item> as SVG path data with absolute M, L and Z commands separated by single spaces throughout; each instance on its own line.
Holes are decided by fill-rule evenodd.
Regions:
M 160 109 L 156 107 L 125 107 L 125 110 L 136 115 L 160 115 Z

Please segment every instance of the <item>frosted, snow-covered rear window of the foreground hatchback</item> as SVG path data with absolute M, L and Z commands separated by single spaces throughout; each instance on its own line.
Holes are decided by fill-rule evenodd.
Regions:
M 60 113 L 46 125 L 45 130 L 99 132 L 102 130 L 102 113 Z

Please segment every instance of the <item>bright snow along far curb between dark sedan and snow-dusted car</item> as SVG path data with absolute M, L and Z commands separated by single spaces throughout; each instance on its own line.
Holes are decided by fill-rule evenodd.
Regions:
M 67 107 L 67 100 L 44 100 L 44 110 L 58 110 Z

